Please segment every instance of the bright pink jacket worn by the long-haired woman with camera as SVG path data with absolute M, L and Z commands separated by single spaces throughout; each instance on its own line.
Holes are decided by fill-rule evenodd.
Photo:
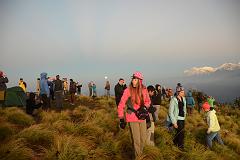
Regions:
M 147 89 L 146 89 L 146 88 L 143 89 L 142 93 L 143 93 L 144 105 L 145 105 L 146 107 L 149 107 L 150 104 L 151 104 L 151 100 L 150 100 L 150 98 L 149 98 L 149 94 L 148 94 Z M 120 101 L 120 103 L 119 103 L 119 105 L 118 105 L 118 117 L 119 117 L 120 119 L 124 117 L 124 108 L 125 108 L 125 106 L 126 106 L 126 102 L 127 102 L 128 98 L 129 98 L 130 96 L 131 96 L 131 95 L 130 95 L 129 88 L 125 89 L 124 92 L 123 92 L 123 96 L 122 96 L 122 98 L 121 98 L 121 101 Z M 140 107 L 140 106 L 139 106 L 138 104 L 134 104 L 134 105 L 133 105 L 133 108 L 134 108 L 135 110 L 137 110 L 139 107 Z M 139 120 L 139 119 L 136 117 L 136 115 L 135 115 L 134 112 L 132 112 L 131 114 L 126 113 L 126 122 L 143 122 L 143 121 L 144 121 L 144 120 Z

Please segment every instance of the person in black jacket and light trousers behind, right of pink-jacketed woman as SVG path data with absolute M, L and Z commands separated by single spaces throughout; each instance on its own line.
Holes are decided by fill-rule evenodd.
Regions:
M 160 110 L 160 105 L 161 105 L 161 102 L 162 102 L 162 92 L 161 92 L 161 86 L 159 84 L 156 84 L 155 85 L 155 91 L 154 91 L 154 95 L 153 95 L 153 107 L 156 108 L 156 111 L 155 111 L 155 117 L 156 117 L 156 121 L 159 120 L 158 118 L 158 113 L 159 113 L 159 110 Z

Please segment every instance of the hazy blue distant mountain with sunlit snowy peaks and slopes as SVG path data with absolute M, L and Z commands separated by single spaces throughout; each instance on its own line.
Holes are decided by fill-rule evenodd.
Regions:
M 240 97 L 240 63 L 224 63 L 216 68 L 193 67 L 184 73 L 187 88 L 201 90 L 219 102 L 232 102 Z

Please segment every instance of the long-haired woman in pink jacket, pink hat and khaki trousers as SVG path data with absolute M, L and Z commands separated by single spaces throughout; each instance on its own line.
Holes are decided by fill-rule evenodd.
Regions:
M 124 90 L 123 96 L 118 105 L 120 127 L 124 129 L 126 122 L 129 123 L 135 150 L 135 157 L 138 157 L 142 154 L 147 138 L 147 126 L 146 120 L 139 120 L 136 114 L 129 108 L 129 102 L 130 107 L 134 110 L 138 110 L 143 105 L 148 108 L 151 104 L 147 88 L 142 84 L 142 81 L 143 75 L 140 72 L 135 72 L 132 76 L 130 85 Z M 125 106 L 128 106 L 128 109 L 124 118 Z

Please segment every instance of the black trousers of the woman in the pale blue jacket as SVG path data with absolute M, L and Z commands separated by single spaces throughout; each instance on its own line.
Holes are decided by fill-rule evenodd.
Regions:
M 184 120 L 178 120 L 177 125 L 177 133 L 174 136 L 173 143 L 179 148 L 184 148 Z

